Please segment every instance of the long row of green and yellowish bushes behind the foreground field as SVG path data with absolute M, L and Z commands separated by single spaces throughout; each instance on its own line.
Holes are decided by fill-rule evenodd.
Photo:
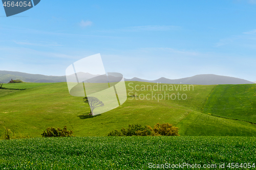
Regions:
M 156 124 L 154 129 L 150 126 L 129 125 L 127 129 L 111 131 L 108 136 L 179 136 L 179 129 L 171 124 Z

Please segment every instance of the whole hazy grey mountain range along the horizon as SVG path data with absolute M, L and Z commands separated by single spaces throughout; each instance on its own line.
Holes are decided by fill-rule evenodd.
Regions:
M 77 75 L 82 77 L 84 80 L 91 79 L 95 75 L 89 73 L 78 72 Z M 72 76 L 72 75 L 71 75 Z M 45 76 L 45 75 L 34 75 L 27 74 L 25 72 L 17 71 L 1 71 L 0 70 L 0 82 L 8 83 L 11 79 L 20 79 L 24 82 L 30 83 L 57 83 L 66 82 L 66 76 Z M 164 77 L 157 80 L 144 80 L 139 78 L 124 79 L 125 81 L 139 81 L 139 82 L 150 82 L 150 83 L 166 83 L 166 84 L 200 84 L 200 85 L 212 85 L 212 84 L 254 84 L 256 82 L 250 82 L 244 79 L 218 76 L 218 75 L 196 75 L 193 77 L 182 78 L 182 79 L 166 79 Z

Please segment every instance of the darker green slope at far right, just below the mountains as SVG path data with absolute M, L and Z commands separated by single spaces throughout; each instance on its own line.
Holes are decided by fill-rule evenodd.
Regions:
M 256 84 L 218 85 L 203 112 L 256 123 Z

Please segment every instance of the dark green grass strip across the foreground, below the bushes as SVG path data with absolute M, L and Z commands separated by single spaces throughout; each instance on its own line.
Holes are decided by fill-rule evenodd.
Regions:
M 62 137 L 0 141 L 1 169 L 152 169 L 150 163 L 255 167 L 254 137 Z M 242 166 L 241 167 L 241 163 Z M 216 164 L 216 168 L 214 168 Z M 161 166 L 161 165 L 160 165 Z M 231 166 L 231 164 L 229 165 Z M 189 167 L 189 166 L 188 166 Z M 184 166 L 179 169 L 193 169 Z M 236 168 L 237 169 L 237 168 Z M 255 169 L 253 167 L 247 169 Z

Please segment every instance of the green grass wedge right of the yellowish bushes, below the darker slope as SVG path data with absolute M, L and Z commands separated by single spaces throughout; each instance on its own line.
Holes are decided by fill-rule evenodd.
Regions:
M 256 136 L 253 124 L 200 112 L 191 112 L 177 127 L 183 136 Z

